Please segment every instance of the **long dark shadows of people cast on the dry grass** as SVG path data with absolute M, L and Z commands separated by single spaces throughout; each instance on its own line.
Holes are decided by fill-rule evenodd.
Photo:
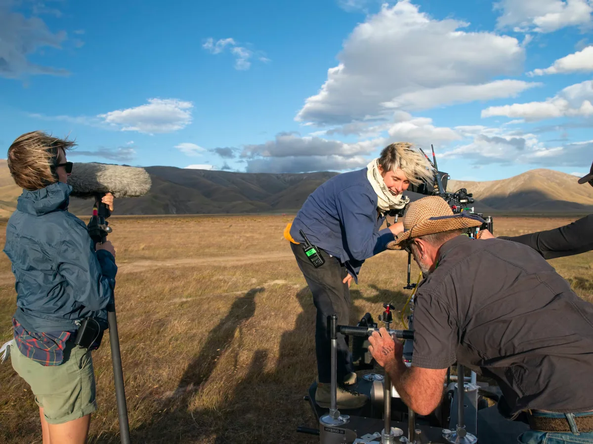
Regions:
M 377 289 L 364 298 L 358 290 L 351 292 L 353 301 L 370 303 L 404 300 L 402 292 Z M 208 335 L 199 355 L 187 366 L 173 397 L 155 406 L 152 419 L 132 430 L 134 444 L 144 443 L 317 443 L 318 437 L 296 432 L 299 425 L 315 427 L 313 413 L 303 400 L 317 373 L 315 364 L 315 315 L 313 297 L 308 287 L 295 297 L 302 311 L 294 328 L 280 336 L 278 359 L 273 365 L 264 349 L 256 350 L 246 375 L 237 382 L 232 395 L 222 405 L 191 410 L 192 398 L 200 384 L 208 381 L 216 363 L 214 359 L 227 349 L 235 331 L 255 313 L 254 297 L 260 288 L 252 289 L 232 304 L 229 314 Z M 361 309 L 355 318 L 362 317 Z M 361 311 L 358 316 L 358 311 Z M 351 317 L 352 318 L 352 317 Z M 272 370 L 266 370 L 272 368 Z M 92 444 L 119 442 L 117 433 L 102 433 Z

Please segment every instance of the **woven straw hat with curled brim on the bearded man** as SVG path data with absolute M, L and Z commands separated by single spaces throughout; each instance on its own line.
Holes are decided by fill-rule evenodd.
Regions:
M 387 244 L 388 250 L 401 250 L 401 244 L 414 237 L 442 231 L 482 226 L 481 217 L 453 210 L 440 196 L 423 197 L 409 204 L 404 213 L 404 232 L 396 240 Z

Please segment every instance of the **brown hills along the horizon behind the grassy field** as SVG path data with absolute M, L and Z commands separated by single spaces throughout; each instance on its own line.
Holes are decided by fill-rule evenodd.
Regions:
M 116 214 L 246 214 L 295 213 L 319 185 L 335 172 L 271 174 L 150 166 L 152 188 L 144 197 L 116 201 Z M 593 188 L 575 176 L 534 169 L 489 182 L 450 180 L 448 191 L 466 188 L 482 213 L 593 212 Z M 6 160 L 0 160 L 0 217 L 9 216 L 21 194 Z M 422 196 L 410 194 L 412 200 Z M 90 214 L 89 201 L 72 199 L 70 211 Z

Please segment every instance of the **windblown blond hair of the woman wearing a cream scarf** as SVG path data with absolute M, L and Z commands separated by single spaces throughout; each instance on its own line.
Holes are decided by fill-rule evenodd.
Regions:
M 381 151 L 379 165 L 384 171 L 401 169 L 412 185 L 431 183 L 433 180 L 431 163 L 412 143 L 397 142 L 386 146 Z

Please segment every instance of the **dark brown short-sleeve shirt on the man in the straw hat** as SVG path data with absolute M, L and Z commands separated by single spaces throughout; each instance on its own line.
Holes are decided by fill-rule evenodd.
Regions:
M 593 305 L 537 252 L 458 236 L 417 289 L 412 365 L 455 361 L 494 378 L 512 408 L 593 410 Z

